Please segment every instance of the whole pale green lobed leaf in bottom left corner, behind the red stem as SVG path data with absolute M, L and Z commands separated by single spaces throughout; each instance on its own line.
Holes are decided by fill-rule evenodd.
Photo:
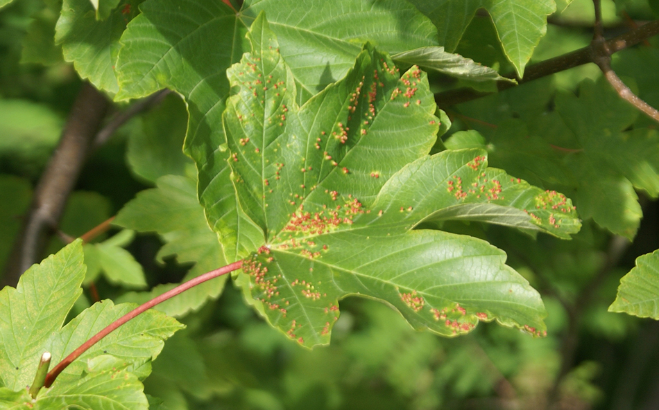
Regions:
M 29 385 L 42 353 L 52 353 L 53 361 L 58 362 L 96 332 L 135 308 L 135 305 L 114 305 L 112 301 L 102 301 L 60 328 L 81 293 L 80 283 L 85 277 L 81 245 L 81 240 L 72 242 L 41 265 L 28 269 L 16 289 L 5 287 L 0 291 L 0 338 L 3 346 L 0 350 L 0 378 L 6 388 L 19 391 Z M 163 340 L 181 327 L 175 319 L 160 312 L 145 312 L 87 350 L 55 380 L 52 389 L 47 390 L 49 393 L 40 393 L 38 397 L 59 394 L 53 392 L 78 391 L 80 386 L 86 386 L 85 389 L 89 389 L 89 394 L 93 396 L 106 394 L 103 389 L 99 391 L 98 386 L 94 387 L 94 382 L 86 381 L 98 375 L 83 376 L 87 368 L 85 362 L 101 354 L 113 355 L 115 360 L 121 359 L 126 364 L 124 367 L 128 366 L 144 377 L 150 371 L 151 359 L 160 353 Z M 121 375 L 126 380 L 135 378 L 135 375 L 128 373 Z M 140 384 L 135 393 L 141 392 Z M 80 393 L 81 396 L 86 394 Z M 107 394 L 110 401 L 114 400 L 111 399 L 113 395 L 121 397 L 118 392 Z M 58 400 L 62 399 L 60 397 Z M 103 402 L 105 399 L 95 400 Z M 130 406 L 130 403 L 126 405 Z M 47 406 L 44 404 L 42 408 Z

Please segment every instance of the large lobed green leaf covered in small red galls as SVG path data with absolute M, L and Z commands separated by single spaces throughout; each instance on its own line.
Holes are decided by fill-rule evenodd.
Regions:
M 237 282 L 275 328 L 303 346 L 327 344 L 339 299 L 358 295 L 440 335 L 481 320 L 545 334 L 540 295 L 503 251 L 413 227 L 427 217 L 469 219 L 474 209 L 459 209 L 469 202 L 507 207 L 529 229 L 567 236 L 579 229 L 569 199 L 487 170 L 483 150 L 428 157 L 439 124 L 416 66 L 400 75 L 366 44 L 343 80 L 298 107 L 263 15 L 250 41 L 252 53 L 228 71 L 234 94 L 224 113 L 231 181 L 261 238 Z M 450 184 L 459 178 L 462 188 Z M 454 208 L 434 214 L 436 204 Z M 524 213 L 531 206 L 545 220 L 534 224 Z

